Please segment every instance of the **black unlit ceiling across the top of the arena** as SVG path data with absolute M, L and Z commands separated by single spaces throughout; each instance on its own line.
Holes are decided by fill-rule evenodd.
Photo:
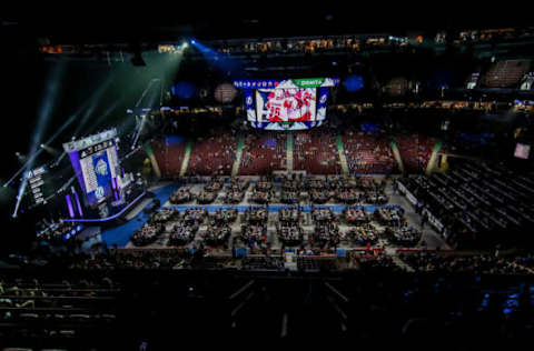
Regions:
M 373 2 L 346 2 L 334 9 L 320 2 L 181 2 L 165 7 L 135 3 L 122 9 L 79 7 L 71 11 L 4 14 L 2 29 L 13 36 L 47 37 L 57 43 L 160 41 L 181 37 L 201 39 L 318 36 L 437 30 L 459 30 L 532 24 L 518 7 L 488 9 L 422 7 Z M 142 7 L 142 8 L 141 8 Z

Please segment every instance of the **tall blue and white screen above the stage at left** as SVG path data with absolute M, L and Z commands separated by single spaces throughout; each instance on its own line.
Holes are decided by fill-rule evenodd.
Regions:
M 112 197 L 112 189 L 117 187 L 120 174 L 116 137 L 117 131 L 112 129 L 63 144 L 89 207 Z

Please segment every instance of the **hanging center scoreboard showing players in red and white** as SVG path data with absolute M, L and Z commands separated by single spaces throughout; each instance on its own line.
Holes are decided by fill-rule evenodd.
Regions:
M 301 130 L 326 119 L 328 89 L 336 78 L 235 81 L 244 89 L 247 120 L 258 129 Z

